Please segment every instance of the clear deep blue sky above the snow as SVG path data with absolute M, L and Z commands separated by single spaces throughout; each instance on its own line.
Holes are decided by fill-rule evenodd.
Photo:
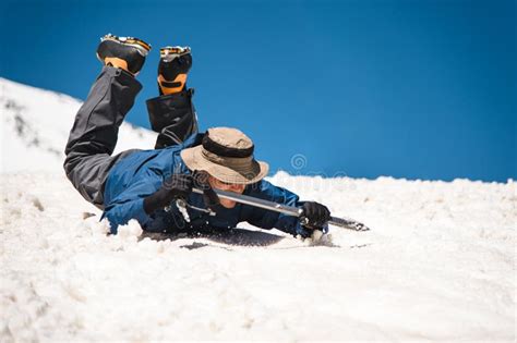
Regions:
M 202 127 L 240 127 L 273 171 L 517 177 L 513 0 L 2 1 L 0 13 L 0 75 L 80 99 L 101 35 L 151 42 L 128 117 L 146 127 L 159 47 L 191 46 Z

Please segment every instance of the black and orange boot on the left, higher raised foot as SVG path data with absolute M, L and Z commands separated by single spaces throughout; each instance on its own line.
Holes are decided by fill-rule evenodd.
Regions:
M 108 34 L 100 38 L 97 58 L 105 65 L 123 69 L 135 75 L 144 65 L 151 45 L 139 38 Z

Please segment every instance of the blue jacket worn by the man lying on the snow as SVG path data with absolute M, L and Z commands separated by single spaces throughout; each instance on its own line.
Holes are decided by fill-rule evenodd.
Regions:
M 219 207 L 216 216 L 188 208 L 190 221 L 185 220 L 180 209 L 172 204 L 167 210 L 156 210 L 152 215 L 144 211 L 144 198 L 161 187 L 167 176 L 172 173 L 191 173 L 181 159 L 180 151 L 201 143 L 200 134 L 190 136 L 183 144 L 164 149 L 136 150 L 122 158 L 110 170 L 105 183 L 105 211 L 111 233 L 117 233 L 118 225 L 136 219 L 142 228 L 151 232 L 173 232 L 175 230 L 227 230 L 236 228 L 239 222 L 262 229 L 279 229 L 292 235 L 308 236 L 298 218 L 256 207 L 237 204 L 231 209 Z M 249 185 L 244 194 L 290 206 L 302 206 L 296 194 L 260 181 Z M 192 193 L 187 199 L 191 206 L 205 208 L 203 197 Z

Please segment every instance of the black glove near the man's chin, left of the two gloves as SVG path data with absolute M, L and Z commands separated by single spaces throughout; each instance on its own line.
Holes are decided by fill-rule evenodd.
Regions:
M 154 194 L 144 198 L 144 211 L 153 213 L 159 208 L 169 206 L 173 199 L 187 198 L 192 192 L 193 177 L 188 174 L 173 174 Z

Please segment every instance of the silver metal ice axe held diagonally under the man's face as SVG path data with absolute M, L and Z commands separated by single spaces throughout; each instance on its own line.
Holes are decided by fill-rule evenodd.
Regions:
M 203 194 L 202 189 L 199 188 L 193 188 L 192 189 L 194 193 Z M 232 192 L 227 192 L 227 191 L 221 191 L 221 189 L 214 189 L 214 192 L 217 194 L 217 196 L 232 200 L 236 203 L 240 203 L 243 205 L 249 205 L 249 206 L 254 206 L 258 208 L 263 208 L 269 211 L 275 211 L 275 212 L 280 212 L 287 216 L 292 216 L 292 217 L 298 217 L 302 218 L 303 217 L 303 210 L 301 208 L 294 207 L 294 206 L 287 206 L 282 204 L 277 204 L 274 201 L 269 200 L 264 200 L 264 199 L 258 199 L 249 195 L 244 194 L 237 194 Z M 368 231 L 370 230 L 366 225 L 363 223 L 360 223 L 358 221 L 354 221 L 353 219 L 350 218 L 337 218 L 337 217 L 330 217 L 330 220 L 327 222 L 332 225 L 336 225 L 339 228 L 348 229 L 348 230 L 353 230 L 353 231 Z

